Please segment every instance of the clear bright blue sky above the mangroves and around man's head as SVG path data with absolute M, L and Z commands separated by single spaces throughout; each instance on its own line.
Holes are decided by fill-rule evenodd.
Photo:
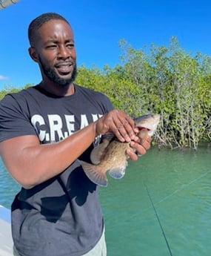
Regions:
M 41 81 L 27 52 L 28 24 L 41 13 L 60 13 L 72 24 L 78 66 L 113 68 L 120 64 L 120 39 L 141 49 L 167 46 L 177 36 L 187 52 L 211 55 L 210 7 L 210 0 L 20 0 L 0 10 L 0 89 Z

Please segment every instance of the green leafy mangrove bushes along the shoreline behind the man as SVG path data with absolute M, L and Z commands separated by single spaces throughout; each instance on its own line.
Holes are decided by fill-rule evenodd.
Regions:
M 76 83 L 105 93 L 115 108 L 130 116 L 161 115 L 153 144 L 158 148 L 193 148 L 211 141 L 211 56 L 187 53 L 175 36 L 169 46 L 134 49 L 120 40 L 121 64 L 102 70 L 78 67 Z M 33 84 L 27 84 L 28 88 Z M 23 89 L 21 88 L 21 89 Z M 21 90 L 15 86 L 0 91 Z

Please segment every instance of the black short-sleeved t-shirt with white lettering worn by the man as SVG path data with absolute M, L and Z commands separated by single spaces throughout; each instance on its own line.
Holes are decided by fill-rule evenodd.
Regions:
M 73 95 L 64 97 L 36 85 L 1 100 L 0 141 L 33 134 L 41 144 L 58 142 L 112 108 L 107 96 L 78 85 Z M 79 159 L 89 162 L 90 151 L 100 139 Z M 34 188 L 21 188 L 13 201 L 13 240 L 21 256 L 84 255 L 96 245 L 102 230 L 98 186 L 87 178 L 78 160 Z

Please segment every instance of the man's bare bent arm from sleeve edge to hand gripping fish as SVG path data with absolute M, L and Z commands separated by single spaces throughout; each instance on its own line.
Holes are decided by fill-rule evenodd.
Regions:
M 33 188 L 64 171 L 96 136 L 107 132 L 113 132 L 122 142 L 138 142 L 133 119 L 123 111 L 113 110 L 61 142 L 41 145 L 36 136 L 15 137 L 0 143 L 0 153 L 11 176 L 24 188 Z M 134 147 L 144 154 L 145 149 L 139 143 Z M 135 160 L 133 152 L 129 155 Z

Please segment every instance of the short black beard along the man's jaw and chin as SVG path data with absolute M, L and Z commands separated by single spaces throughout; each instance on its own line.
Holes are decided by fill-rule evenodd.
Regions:
M 47 76 L 47 78 L 50 79 L 50 81 L 54 82 L 56 85 L 61 85 L 61 86 L 65 87 L 75 81 L 76 76 L 77 76 L 76 62 L 73 63 L 73 73 L 70 76 L 70 78 L 63 79 L 60 76 L 58 76 L 58 74 L 55 72 L 55 70 L 53 70 L 53 68 L 50 68 L 49 66 L 44 65 L 41 58 L 38 58 L 38 59 L 39 59 L 40 65 L 41 65 L 41 69 L 43 70 L 45 76 Z

